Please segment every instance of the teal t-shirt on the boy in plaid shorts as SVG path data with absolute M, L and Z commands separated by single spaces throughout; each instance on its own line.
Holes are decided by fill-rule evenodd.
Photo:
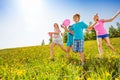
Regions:
M 84 39 L 83 29 L 87 28 L 88 25 L 85 24 L 83 21 L 75 23 L 72 25 L 72 30 L 74 32 L 73 39 Z

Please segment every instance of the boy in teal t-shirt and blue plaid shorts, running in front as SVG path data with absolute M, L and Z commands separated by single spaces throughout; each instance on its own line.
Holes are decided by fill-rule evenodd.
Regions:
M 73 52 L 78 52 L 81 57 L 82 65 L 84 65 L 84 34 L 83 29 L 87 28 L 87 24 L 83 21 L 80 21 L 80 15 L 73 15 L 73 20 L 75 24 L 72 25 L 71 31 L 64 28 L 66 31 L 73 34 Z

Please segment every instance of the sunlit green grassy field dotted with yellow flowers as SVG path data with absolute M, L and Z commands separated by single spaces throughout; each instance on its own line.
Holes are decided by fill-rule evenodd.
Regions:
M 120 38 L 111 39 L 112 53 L 103 41 L 99 58 L 96 41 L 85 42 L 85 65 L 76 53 L 71 58 L 55 47 L 50 61 L 49 45 L 0 50 L 0 80 L 120 80 Z

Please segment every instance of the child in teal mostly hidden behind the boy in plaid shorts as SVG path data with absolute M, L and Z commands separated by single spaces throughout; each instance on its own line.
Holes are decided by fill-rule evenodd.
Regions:
M 63 25 L 61 25 L 61 27 L 64 29 L 65 27 Z M 67 27 L 67 26 L 66 26 Z M 72 26 L 68 26 L 68 30 L 71 31 Z M 73 34 L 71 34 L 70 32 L 67 33 L 67 58 L 70 57 L 70 48 L 72 48 L 73 45 Z

